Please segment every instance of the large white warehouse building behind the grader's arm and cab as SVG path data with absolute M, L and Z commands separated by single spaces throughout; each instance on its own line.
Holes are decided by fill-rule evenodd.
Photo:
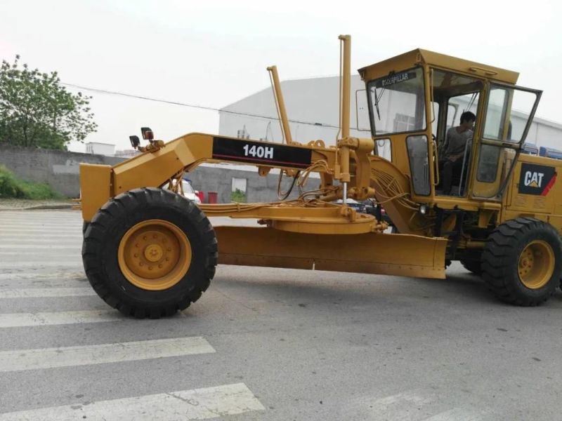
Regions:
M 339 130 L 339 77 L 283 81 L 281 88 L 293 140 L 306 143 L 321 139 L 326 145 L 335 145 Z M 351 76 L 350 121 L 352 136 L 370 138 L 365 82 L 358 75 Z M 244 133 L 250 139 L 280 142 L 282 132 L 272 89 L 263 89 L 221 109 L 218 132 L 232 137 Z M 535 116 L 526 142 L 562 149 L 562 123 Z

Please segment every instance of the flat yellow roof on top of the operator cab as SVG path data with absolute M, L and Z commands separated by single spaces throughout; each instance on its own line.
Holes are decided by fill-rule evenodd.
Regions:
M 485 79 L 492 79 L 504 83 L 514 85 L 519 77 L 518 72 L 500 69 L 489 65 L 483 65 L 478 62 L 463 60 L 462 58 L 452 57 L 433 51 L 422 50 L 417 48 L 408 53 L 397 55 L 393 58 L 375 63 L 358 70 L 361 79 L 370 81 L 388 75 L 390 72 L 400 72 L 402 70 L 411 69 L 419 65 L 430 67 L 439 67 L 441 69 L 451 70 L 470 76 L 477 76 Z

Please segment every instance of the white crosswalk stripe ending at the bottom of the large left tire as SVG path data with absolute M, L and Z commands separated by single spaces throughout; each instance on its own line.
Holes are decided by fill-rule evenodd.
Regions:
M 125 321 L 117 310 L 89 310 L 81 312 L 12 313 L 0 314 L 0 328 L 22 328 L 25 326 L 53 326 L 74 323 L 98 323 Z

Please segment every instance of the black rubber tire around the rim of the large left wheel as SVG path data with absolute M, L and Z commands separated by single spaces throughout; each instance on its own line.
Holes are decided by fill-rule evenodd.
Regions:
M 169 288 L 139 288 L 119 265 L 121 239 L 147 220 L 170 223 L 190 244 L 188 267 Z M 134 189 L 105 203 L 92 218 L 82 246 L 86 276 L 96 293 L 119 312 L 138 318 L 170 316 L 197 301 L 213 279 L 217 257 L 214 229 L 202 210 L 183 196 L 156 188 Z

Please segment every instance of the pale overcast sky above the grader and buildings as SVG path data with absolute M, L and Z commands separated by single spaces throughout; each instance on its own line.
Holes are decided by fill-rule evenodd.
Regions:
M 544 91 L 536 115 L 562 123 L 560 4 L 0 0 L 0 59 L 20 54 L 65 83 L 218 109 L 268 88 L 270 65 L 282 80 L 338 74 L 337 37 L 351 34 L 353 72 L 426 48 L 520 72 L 519 85 Z M 81 91 L 98 123 L 86 142 L 129 149 L 141 126 L 162 140 L 218 131 L 216 111 Z

